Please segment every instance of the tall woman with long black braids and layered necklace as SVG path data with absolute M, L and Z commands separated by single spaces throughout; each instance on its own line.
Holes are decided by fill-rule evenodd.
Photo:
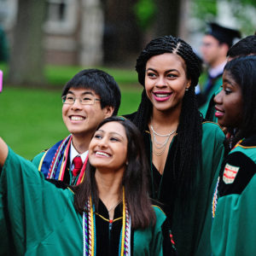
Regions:
M 137 58 L 143 85 L 136 113 L 143 133 L 151 196 L 163 204 L 177 255 L 210 255 L 211 202 L 224 154 L 224 134 L 204 122 L 195 99 L 201 61 L 182 39 L 152 40 Z

